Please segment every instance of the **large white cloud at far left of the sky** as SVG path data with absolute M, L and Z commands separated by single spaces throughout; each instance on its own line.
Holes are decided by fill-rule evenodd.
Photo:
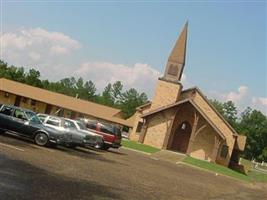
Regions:
M 1 58 L 18 65 L 42 65 L 55 56 L 66 56 L 81 44 L 70 36 L 42 28 L 3 33 Z M 38 61 L 38 63 L 36 63 Z

